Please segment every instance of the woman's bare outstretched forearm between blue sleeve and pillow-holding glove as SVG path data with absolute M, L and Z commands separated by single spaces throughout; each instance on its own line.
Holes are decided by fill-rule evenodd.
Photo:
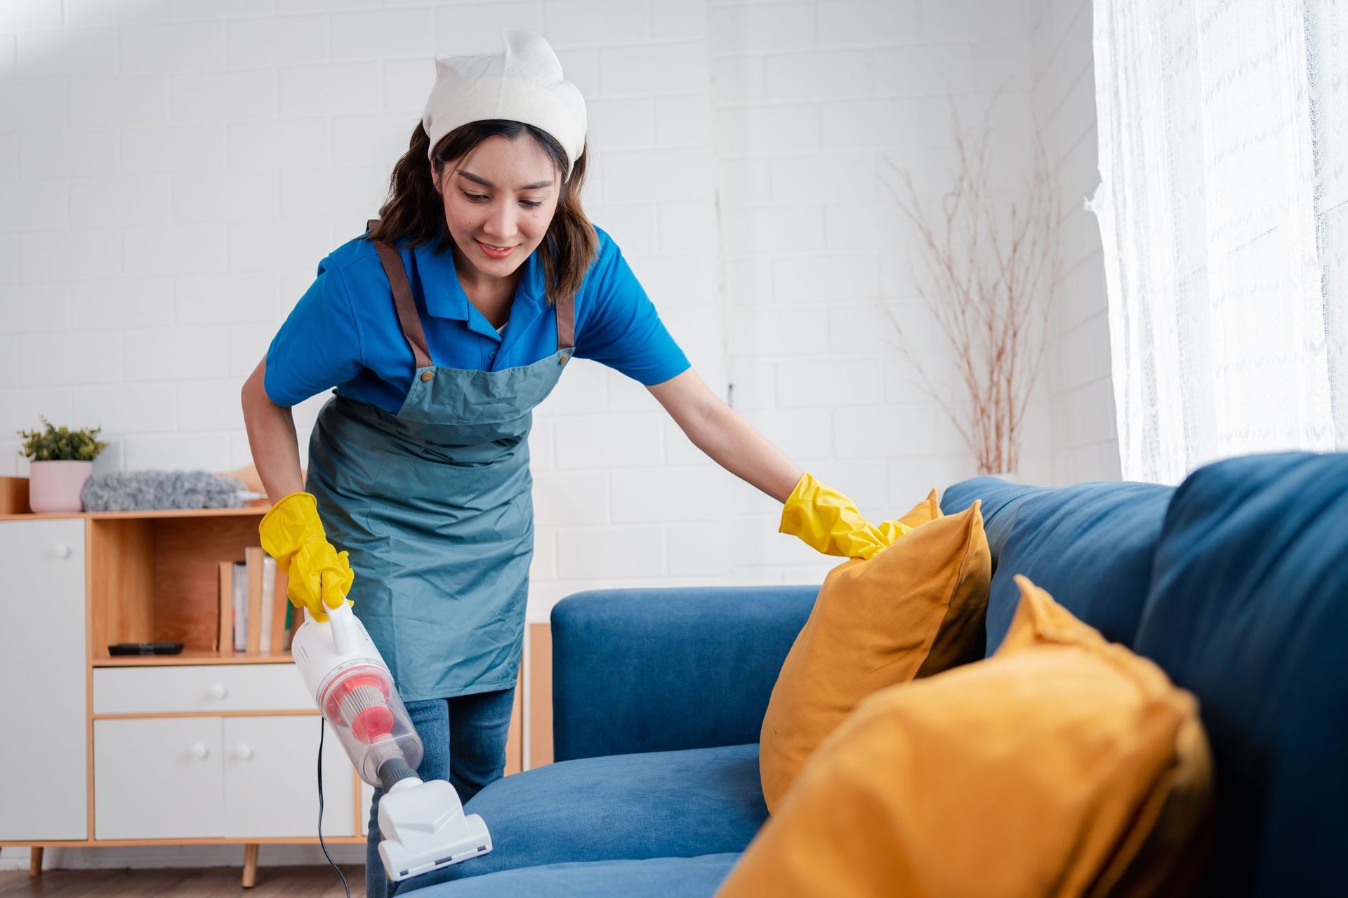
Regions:
M 778 502 L 791 495 L 803 471 L 723 403 L 692 368 L 647 389 L 717 464 Z

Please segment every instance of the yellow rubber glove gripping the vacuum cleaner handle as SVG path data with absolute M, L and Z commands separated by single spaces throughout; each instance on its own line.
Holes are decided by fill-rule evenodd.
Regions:
M 356 572 L 328 541 L 313 493 L 291 493 L 276 502 L 257 525 L 262 548 L 290 578 L 286 594 L 297 609 L 309 609 L 315 621 L 328 619 L 350 590 Z M 348 605 L 350 599 L 346 599 Z

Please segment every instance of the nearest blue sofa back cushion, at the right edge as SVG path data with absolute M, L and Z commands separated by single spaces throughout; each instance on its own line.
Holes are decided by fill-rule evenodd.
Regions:
M 1348 454 L 1200 469 L 1157 547 L 1136 648 L 1198 696 L 1215 894 L 1343 894 Z

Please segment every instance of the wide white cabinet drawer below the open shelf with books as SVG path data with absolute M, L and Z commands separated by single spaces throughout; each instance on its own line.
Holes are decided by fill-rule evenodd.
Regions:
M 313 696 L 293 664 L 96 668 L 94 714 L 310 711 Z

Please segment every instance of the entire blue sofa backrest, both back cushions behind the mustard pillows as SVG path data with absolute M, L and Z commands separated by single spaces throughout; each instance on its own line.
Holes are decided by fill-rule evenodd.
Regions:
M 1343 894 L 1348 845 L 1348 454 L 1255 455 L 1175 489 L 975 478 L 988 652 L 1030 576 L 1198 697 L 1217 823 L 1204 894 Z

